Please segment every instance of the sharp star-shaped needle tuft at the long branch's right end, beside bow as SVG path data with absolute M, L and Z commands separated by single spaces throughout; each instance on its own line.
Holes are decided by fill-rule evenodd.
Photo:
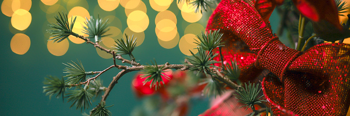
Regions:
M 219 63 L 219 61 L 213 60 L 214 57 L 217 56 L 217 54 L 212 55 L 212 51 L 209 51 L 206 53 L 201 47 L 197 48 L 199 56 L 196 56 L 191 50 L 191 54 L 193 55 L 193 58 L 186 57 L 193 65 L 194 67 L 191 67 L 190 71 L 199 71 L 196 76 L 200 72 L 204 72 L 205 74 L 211 74 L 214 75 L 214 73 L 211 73 L 211 67 L 219 68 L 215 65 L 212 65 L 214 63 Z M 212 55 L 212 57 L 210 57 Z

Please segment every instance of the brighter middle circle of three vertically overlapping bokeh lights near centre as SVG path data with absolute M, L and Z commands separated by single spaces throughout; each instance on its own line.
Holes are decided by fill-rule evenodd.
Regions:
M 170 19 L 163 19 L 156 24 L 155 33 L 160 40 L 170 41 L 176 36 L 176 24 Z

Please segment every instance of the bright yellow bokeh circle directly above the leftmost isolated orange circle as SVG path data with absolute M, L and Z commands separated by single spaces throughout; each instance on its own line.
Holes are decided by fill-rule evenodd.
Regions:
M 32 22 L 32 14 L 24 9 L 18 9 L 11 17 L 11 24 L 18 30 L 24 30 Z

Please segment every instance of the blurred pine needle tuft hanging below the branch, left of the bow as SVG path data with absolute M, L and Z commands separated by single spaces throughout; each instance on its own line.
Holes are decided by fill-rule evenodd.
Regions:
M 225 90 L 223 85 L 215 78 L 205 78 L 205 81 L 201 82 L 200 85 L 206 86 L 203 88 L 203 93 L 207 96 L 221 95 Z

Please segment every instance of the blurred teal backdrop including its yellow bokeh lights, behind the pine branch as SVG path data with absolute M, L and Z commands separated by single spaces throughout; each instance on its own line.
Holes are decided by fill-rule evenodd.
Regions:
M 109 42 L 113 43 L 113 40 L 122 37 L 123 33 L 139 35 L 139 46 L 135 48 L 133 55 L 141 64 L 150 63 L 153 58 L 158 64 L 166 62 L 183 64 L 184 56 L 189 54 L 188 49 L 195 47 L 192 43 L 194 35 L 204 30 L 206 21 L 212 13 L 209 11 L 203 15 L 194 14 L 191 9 L 183 8 L 185 5 L 178 5 L 173 0 L 111 2 L 113 3 L 108 3 L 107 0 L 3 0 L 1 2 L 1 116 L 81 116 L 81 112 L 75 110 L 75 107 L 69 108 L 71 103 L 67 103 L 67 100 L 63 102 L 62 98 L 54 97 L 49 100 L 49 97 L 42 93 L 44 77 L 64 76 L 65 73 L 62 70 L 66 66 L 62 63 L 71 62 L 70 60 L 81 60 L 86 71 L 102 71 L 113 63 L 111 55 L 98 53 L 100 50 L 76 38 L 69 38 L 58 45 L 48 42 L 50 34 L 46 33 L 46 29 L 50 27 L 47 25 L 54 22 L 53 16 L 58 12 L 71 13 L 68 17 L 78 15 L 79 20 L 77 19 L 75 25 L 77 32 L 81 31 L 81 24 L 86 15 L 99 14 L 105 19 L 111 19 L 111 26 L 113 26 L 111 32 L 114 35 L 104 38 L 105 43 L 102 41 L 102 45 L 106 47 L 111 44 Z M 133 14 L 133 11 L 137 10 L 144 12 L 147 17 L 143 15 L 139 18 L 140 14 Z M 165 10 L 167 12 L 164 12 Z M 128 19 L 127 14 L 133 14 L 133 17 L 129 16 L 130 19 Z M 273 15 L 276 16 L 275 13 Z M 278 18 L 271 19 L 273 19 L 270 20 L 271 22 L 278 20 Z M 128 20 L 130 20 L 129 24 Z M 131 29 L 138 25 L 141 26 Z M 274 23 L 271 25 L 277 27 Z M 176 34 L 171 33 L 174 30 Z M 141 42 L 142 39 L 143 42 Z M 112 77 L 118 72 L 114 68 L 100 76 L 105 87 L 108 87 Z M 107 105 L 114 104 L 109 108 L 113 116 L 129 116 L 133 108 L 141 104 L 131 89 L 135 73 L 124 75 L 110 93 L 106 102 Z M 93 102 L 90 109 L 83 112 L 88 113 L 99 101 L 100 99 Z M 192 102 L 189 116 L 197 116 L 204 112 L 209 108 L 208 103 L 207 99 Z

